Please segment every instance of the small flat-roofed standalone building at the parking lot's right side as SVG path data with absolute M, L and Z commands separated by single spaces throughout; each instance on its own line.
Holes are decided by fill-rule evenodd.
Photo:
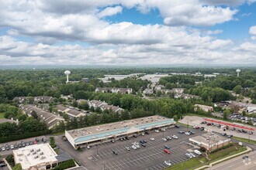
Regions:
M 221 148 L 230 144 L 230 138 L 225 138 L 218 134 L 201 134 L 199 136 L 195 136 L 193 138 L 189 138 L 189 141 L 192 144 L 197 145 L 202 148 L 206 148 L 208 151 L 213 151 L 217 148 Z

